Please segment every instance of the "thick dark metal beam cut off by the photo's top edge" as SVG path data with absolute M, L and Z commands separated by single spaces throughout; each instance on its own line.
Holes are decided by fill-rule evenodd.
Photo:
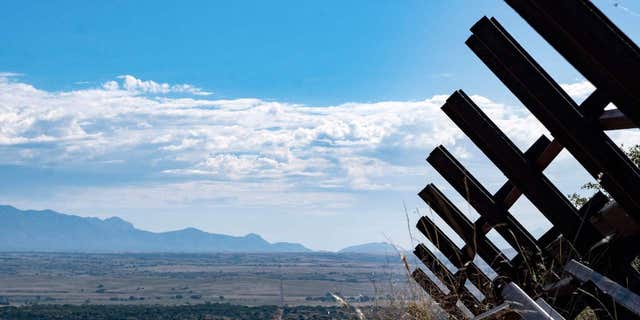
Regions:
M 584 0 L 506 2 L 640 126 L 640 49 L 595 5 Z

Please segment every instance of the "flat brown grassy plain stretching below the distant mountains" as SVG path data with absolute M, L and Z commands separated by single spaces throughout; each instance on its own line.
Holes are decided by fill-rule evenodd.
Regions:
M 396 256 L 0 253 L 0 305 L 373 304 L 406 285 Z

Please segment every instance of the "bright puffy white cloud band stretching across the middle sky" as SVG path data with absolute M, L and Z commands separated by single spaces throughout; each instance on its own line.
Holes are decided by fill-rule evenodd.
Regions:
M 130 75 L 99 88 L 58 92 L 17 79 L 0 74 L 0 164 L 136 162 L 167 178 L 397 190 L 389 177 L 422 174 L 416 169 L 425 166 L 422 155 L 438 144 L 473 157 L 469 140 L 440 110 L 444 95 L 307 106 L 208 99 L 190 85 Z M 545 132 L 521 107 L 472 99 L 516 143 L 530 144 Z M 422 155 L 403 162 L 390 152 Z

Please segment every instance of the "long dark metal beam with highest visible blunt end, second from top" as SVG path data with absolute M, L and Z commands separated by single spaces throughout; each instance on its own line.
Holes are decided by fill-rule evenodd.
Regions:
M 640 220 L 640 169 L 495 20 L 480 19 L 467 45 L 587 171 Z M 553 106 L 553 108 L 551 108 Z

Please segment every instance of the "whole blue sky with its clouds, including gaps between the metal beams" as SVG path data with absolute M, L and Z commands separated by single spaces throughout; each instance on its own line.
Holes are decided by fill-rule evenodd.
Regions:
M 597 5 L 640 42 L 640 5 Z M 614 5 L 617 4 L 617 5 Z M 591 90 L 500 1 L 3 2 L 0 201 L 136 226 L 338 249 L 410 243 L 444 144 L 503 181 L 439 111 L 474 94 L 521 148 L 545 130 L 464 45 L 497 17 L 576 100 Z M 618 143 L 636 132 L 611 133 Z M 573 192 L 569 155 L 547 171 Z M 426 210 L 426 211 L 425 211 Z M 542 230 L 526 202 L 514 213 Z M 517 213 L 516 213 L 517 211 Z

